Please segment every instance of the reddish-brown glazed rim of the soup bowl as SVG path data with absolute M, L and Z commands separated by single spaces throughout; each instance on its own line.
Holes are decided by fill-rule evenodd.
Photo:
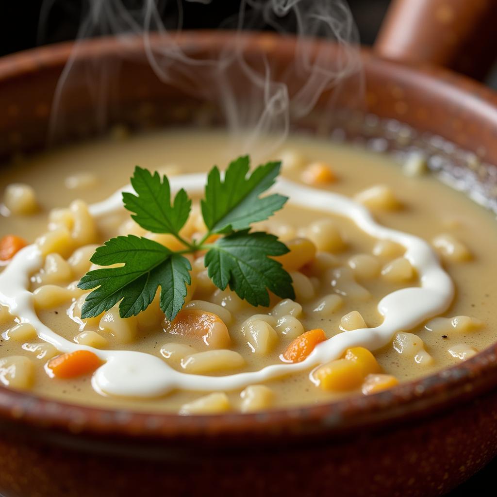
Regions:
M 222 46 L 233 36 L 229 32 L 184 32 L 180 42 L 210 43 Z M 253 43 L 262 49 L 273 35 L 251 34 Z M 292 37 L 286 37 L 286 41 Z M 286 42 L 285 41 L 285 42 Z M 282 39 L 278 38 L 278 44 Z M 140 42 L 132 45 L 139 49 Z M 0 82 L 40 68 L 61 67 L 69 58 L 73 42 L 65 42 L 18 52 L 0 58 Z M 98 38 L 82 45 L 83 54 L 91 56 L 112 53 L 120 48 L 115 39 Z M 413 79 L 424 91 L 447 91 L 452 99 L 473 96 L 478 101 L 479 113 L 495 116 L 497 126 L 497 94 L 469 78 L 442 68 L 429 65 L 406 65 L 382 59 L 368 49 L 361 50 L 368 70 L 382 72 L 385 76 Z M 5 421 L 57 428 L 72 433 L 111 434 L 127 437 L 147 437 L 156 440 L 212 437 L 234 440 L 233 435 L 248 434 L 271 438 L 282 432 L 294 435 L 310 433 L 343 434 L 351 428 L 362 430 L 391 425 L 416 416 L 448 409 L 491 389 L 497 384 L 497 342 L 473 358 L 443 369 L 419 380 L 403 383 L 391 390 L 371 396 L 353 396 L 343 400 L 314 406 L 279 409 L 256 414 L 215 414 L 181 416 L 159 412 L 114 410 L 68 404 L 30 393 L 10 390 L 0 386 L 0 417 Z M 238 440 L 240 442 L 240 440 Z

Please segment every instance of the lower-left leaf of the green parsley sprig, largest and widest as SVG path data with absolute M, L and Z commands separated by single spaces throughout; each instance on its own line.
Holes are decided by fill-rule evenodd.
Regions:
M 134 235 L 112 238 L 96 249 L 90 261 L 101 266 L 124 265 L 95 269 L 83 276 L 78 288 L 96 288 L 85 299 L 83 319 L 98 316 L 119 301 L 121 318 L 136 316 L 152 303 L 159 286 L 167 319 L 173 320 L 183 307 L 186 285 L 191 283 L 190 261 L 153 240 Z

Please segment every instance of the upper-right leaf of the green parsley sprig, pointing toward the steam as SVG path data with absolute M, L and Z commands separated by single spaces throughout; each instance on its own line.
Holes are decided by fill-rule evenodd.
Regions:
M 248 156 L 233 161 L 226 170 L 224 181 L 217 166 L 207 176 L 202 216 L 211 233 L 244 230 L 251 223 L 263 221 L 281 209 L 287 197 L 273 194 L 260 198 L 279 173 L 280 162 L 258 166 L 248 177 Z

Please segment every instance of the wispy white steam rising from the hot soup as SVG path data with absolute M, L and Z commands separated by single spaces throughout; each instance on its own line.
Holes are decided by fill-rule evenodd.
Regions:
M 45 2 L 41 27 L 55 2 Z M 358 35 L 345 0 L 242 0 L 238 15 L 221 26 L 236 30 L 232 42 L 221 53 L 201 59 L 186 53 L 176 42 L 183 25 L 181 0 L 138 1 L 134 2 L 139 5 L 136 8 L 130 3 L 87 0 L 75 48 L 56 89 L 50 129 L 53 139 L 63 134 L 66 109 L 82 90 L 91 95 L 94 127 L 100 131 L 108 127 L 116 85 L 126 74 L 119 72 L 119 61 L 110 65 L 82 60 L 84 41 L 95 36 L 115 35 L 122 44 L 123 57 L 129 56 L 126 46 L 130 37 L 141 37 L 144 57 L 158 78 L 214 104 L 238 152 L 251 150 L 259 137 L 268 135 L 275 137 L 272 147 L 278 147 L 292 123 L 307 116 L 324 92 L 334 89 L 336 98 L 343 82 L 357 85 L 357 98 L 361 99 Z M 274 60 L 262 52 L 247 59 L 250 39 L 245 34 L 262 29 L 297 35 L 283 69 L 275 68 Z M 330 40 L 334 49 L 325 46 L 313 50 L 315 37 Z M 278 50 L 277 45 L 274 50 Z

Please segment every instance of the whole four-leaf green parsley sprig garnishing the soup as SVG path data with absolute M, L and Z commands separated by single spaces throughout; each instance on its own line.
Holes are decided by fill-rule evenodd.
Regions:
M 268 306 L 268 290 L 281 298 L 294 298 L 290 275 L 272 256 L 288 248 L 274 235 L 250 232 L 250 225 L 281 209 L 287 197 L 261 197 L 279 174 L 281 164 L 269 162 L 248 174 L 250 160 L 230 163 L 224 179 L 217 166 L 207 176 L 202 217 L 204 237 L 186 240 L 180 234 L 191 211 L 191 199 L 181 189 L 171 199 L 169 181 L 158 172 L 136 167 L 131 185 L 135 193 L 123 193 L 124 207 L 145 230 L 174 236 L 184 249 L 173 251 L 147 238 L 128 235 L 112 238 L 98 247 L 90 261 L 104 267 L 89 271 L 78 284 L 93 290 L 85 299 L 82 318 L 98 316 L 119 303 L 122 318 L 136 316 L 152 303 L 161 287 L 160 306 L 168 320 L 181 310 L 191 284 L 187 253 L 205 251 L 207 274 L 221 290 L 228 286 L 253 306 Z M 212 235 L 223 235 L 209 243 Z

